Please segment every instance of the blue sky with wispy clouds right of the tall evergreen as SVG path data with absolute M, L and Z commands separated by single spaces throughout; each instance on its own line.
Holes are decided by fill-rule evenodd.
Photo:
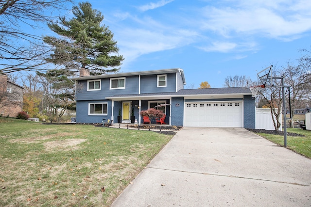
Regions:
M 120 72 L 179 67 L 185 88 L 223 87 L 234 75 L 256 80 L 260 70 L 286 66 L 311 48 L 311 0 L 89 2 L 118 41 Z

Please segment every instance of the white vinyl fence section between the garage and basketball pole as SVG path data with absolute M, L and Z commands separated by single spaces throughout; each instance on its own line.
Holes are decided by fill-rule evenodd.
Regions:
M 275 116 L 274 119 L 276 120 Z M 282 114 L 279 116 L 279 122 L 281 123 L 279 131 L 282 130 L 281 120 Z M 256 129 L 275 130 L 270 109 L 256 109 Z

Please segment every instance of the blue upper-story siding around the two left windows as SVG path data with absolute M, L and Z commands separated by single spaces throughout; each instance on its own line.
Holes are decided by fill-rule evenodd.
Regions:
M 87 80 L 81 80 L 76 86 L 76 100 L 98 100 L 114 95 L 138 94 L 138 82 L 138 76 L 128 76 L 125 78 L 125 89 L 110 90 L 110 79 L 102 79 L 100 91 L 87 91 Z

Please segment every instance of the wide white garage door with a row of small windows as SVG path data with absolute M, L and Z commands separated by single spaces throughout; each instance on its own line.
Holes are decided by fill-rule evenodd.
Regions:
M 242 101 L 185 103 L 185 127 L 242 127 Z

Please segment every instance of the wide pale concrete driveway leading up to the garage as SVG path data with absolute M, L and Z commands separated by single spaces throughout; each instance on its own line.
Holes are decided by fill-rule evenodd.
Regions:
M 113 207 L 310 207 L 311 159 L 244 128 L 184 127 Z

